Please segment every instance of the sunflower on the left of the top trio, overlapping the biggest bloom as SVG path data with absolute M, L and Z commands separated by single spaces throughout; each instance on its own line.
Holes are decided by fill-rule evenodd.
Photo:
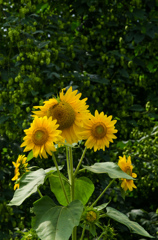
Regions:
M 24 152 L 32 150 L 33 156 L 39 155 L 40 158 L 47 158 L 46 152 L 52 155 L 52 151 L 55 151 L 54 143 L 63 141 L 56 122 L 57 120 L 52 121 L 51 117 L 35 117 L 31 127 L 24 130 L 26 136 L 21 144 L 21 147 L 26 146 Z

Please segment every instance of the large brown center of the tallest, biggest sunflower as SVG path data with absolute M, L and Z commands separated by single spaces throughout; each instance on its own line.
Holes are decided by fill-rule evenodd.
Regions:
M 60 130 L 64 130 L 72 126 L 75 121 L 75 111 L 67 102 L 60 103 L 50 107 L 47 111 L 47 117 L 52 116 L 52 119 L 57 119 Z

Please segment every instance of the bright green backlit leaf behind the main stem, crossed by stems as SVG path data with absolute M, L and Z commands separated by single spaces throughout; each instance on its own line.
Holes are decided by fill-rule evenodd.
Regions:
M 70 201 L 70 184 L 66 177 L 63 175 L 63 184 L 65 187 L 66 194 Z M 65 195 L 63 193 L 63 189 L 61 188 L 60 180 L 58 177 L 58 173 L 54 173 L 52 176 L 49 177 L 51 191 L 55 194 L 58 202 L 61 205 L 66 206 L 67 201 L 65 199 Z M 94 192 L 94 184 L 92 181 L 86 177 L 80 177 L 75 179 L 75 190 L 74 190 L 74 199 L 80 200 L 84 205 L 88 202 L 90 196 Z

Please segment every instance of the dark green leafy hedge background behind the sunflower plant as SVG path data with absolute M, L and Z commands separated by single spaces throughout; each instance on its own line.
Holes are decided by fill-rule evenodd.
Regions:
M 30 207 L 37 196 L 18 208 L 7 203 L 13 196 L 12 161 L 22 153 L 32 108 L 70 85 L 88 97 L 92 113 L 98 109 L 118 119 L 114 144 L 105 152 L 89 150 L 84 163 L 131 155 L 138 174 L 137 189 L 125 200 L 115 186 L 102 202 L 111 199 L 156 237 L 157 43 L 157 0 L 0 0 L 0 239 L 15 239 L 16 228 L 31 228 Z M 59 157 L 63 163 L 62 151 Z M 76 162 L 79 157 L 76 150 Z M 34 164 L 47 168 L 50 160 Z M 95 196 L 107 182 L 96 176 Z M 142 239 L 111 224 L 117 239 Z

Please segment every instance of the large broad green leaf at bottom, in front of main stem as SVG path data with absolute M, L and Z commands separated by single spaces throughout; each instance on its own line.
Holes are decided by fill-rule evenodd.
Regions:
M 75 200 L 68 206 L 57 206 L 48 196 L 34 203 L 33 228 L 41 240 L 68 240 L 79 225 L 83 205 Z

